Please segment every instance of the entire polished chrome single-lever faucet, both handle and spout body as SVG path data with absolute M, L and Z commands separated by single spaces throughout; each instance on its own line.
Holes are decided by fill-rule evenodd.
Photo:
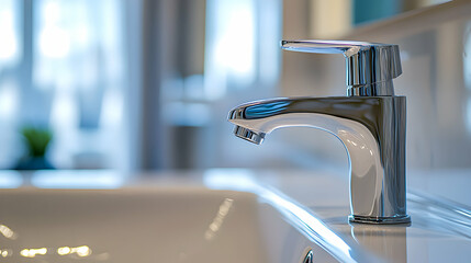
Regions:
M 394 95 L 402 73 L 397 45 L 340 41 L 283 41 L 282 48 L 344 54 L 347 96 L 256 101 L 231 111 L 234 134 L 260 144 L 273 129 L 309 126 L 336 136 L 350 165 L 349 221 L 407 224 L 406 99 Z

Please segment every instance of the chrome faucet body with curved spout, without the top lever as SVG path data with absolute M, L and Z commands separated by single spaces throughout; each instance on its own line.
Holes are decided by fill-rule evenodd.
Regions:
M 231 111 L 234 133 L 254 144 L 281 127 L 336 136 L 350 164 L 350 221 L 410 222 L 405 199 L 405 96 L 295 98 L 256 101 Z

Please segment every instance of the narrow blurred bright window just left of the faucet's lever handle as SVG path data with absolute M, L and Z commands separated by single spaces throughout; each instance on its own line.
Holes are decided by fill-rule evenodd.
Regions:
M 208 0 L 206 4 L 206 98 L 221 99 L 231 89 L 254 85 L 273 90 L 280 70 L 281 1 Z

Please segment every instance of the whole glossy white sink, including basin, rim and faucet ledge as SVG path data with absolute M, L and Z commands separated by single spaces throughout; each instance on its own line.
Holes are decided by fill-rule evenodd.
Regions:
M 90 187 L 89 179 L 100 178 L 36 175 L 32 185 L 55 188 Z M 410 194 L 411 226 L 372 226 L 348 224 L 343 178 L 245 170 L 187 175 L 120 184 L 101 178 L 101 190 L 36 188 L 26 178 L 19 188 L 0 190 L 0 262 L 301 263 L 310 250 L 313 262 L 471 256 L 470 209 L 441 198 Z

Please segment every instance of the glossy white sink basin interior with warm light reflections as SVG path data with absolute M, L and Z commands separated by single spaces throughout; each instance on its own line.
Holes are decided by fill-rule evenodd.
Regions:
M 1 262 L 336 262 L 251 193 L 20 188 L 0 207 Z

